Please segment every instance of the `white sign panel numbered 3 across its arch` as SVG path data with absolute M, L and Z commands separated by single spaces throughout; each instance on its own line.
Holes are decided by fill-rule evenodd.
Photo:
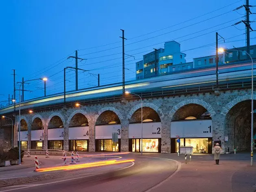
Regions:
M 121 139 L 121 125 L 97 125 L 95 126 L 95 139 L 112 139 L 112 133 L 117 133 Z

